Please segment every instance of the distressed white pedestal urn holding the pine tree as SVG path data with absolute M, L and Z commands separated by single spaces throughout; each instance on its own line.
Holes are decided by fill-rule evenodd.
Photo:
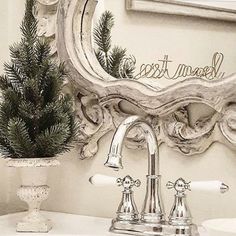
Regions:
M 21 186 L 17 196 L 27 202 L 27 215 L 17 223 L 18 232 L 48 232 L 52 222 L 40 213 L 41 203 L 48 198 L 50 187 L 47 185 L 49 167 L 60 165 L 56 158 L 22 158 L 10 159 L 8 167 L 19 168 Z

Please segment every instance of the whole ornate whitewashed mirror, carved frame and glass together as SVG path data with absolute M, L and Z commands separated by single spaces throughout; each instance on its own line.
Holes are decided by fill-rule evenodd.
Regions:
M 236 76 L 229 75 L 232 66 L 224 64 L 222 52 L 217 51 L 231 45 L 218 48 L 217 39 L 212 41 L 216 23 L 212 22 L 209 29 L 204 19 L 199 23 L 190 18 L 186 25 L 185 17 L 150 13 L 150 4 L 155 7 L 163 2 L 159 0 L 108 0 L 104 9 L 100 6 L 102 11 L 96 8 L 101 1 L 95 0 L 38 2 L 39 33 L 51 40 L 55 56 L 66 63 L 71 74 L 67 90 L 75 98 L 81 120 L 82 158 L 95 155 L 98 140 L 131 114 L 144 116 L 155 128 L 160 143 L 185 155 L 201 153 L 215 141 L 235 148 Z M 140 6 L 141 10 L 137 9 Z M 127 49 L 122 65 L 135 66 L 130 78 L 109 74 L 96 55 L 96 25 L 105 10 L 114 9 L 111 36 L 115 44 Z M 224 23 L 217 24 L 218 30 L 225 28 Z M 190 37 L 191 27 L 195 31 Z M 200 27 L 206 31 L 202 38 L 198 37 Z M 194 104 L 203 104 L 207 112 L 192 118 L 197 113 Z M 127 146 L 145 146 L 138 129 L 128 137 Z

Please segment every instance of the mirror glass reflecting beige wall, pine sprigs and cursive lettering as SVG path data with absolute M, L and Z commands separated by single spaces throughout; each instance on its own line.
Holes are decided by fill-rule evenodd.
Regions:
M 235 72 L 233 22 L 131 11 L 125 0 L 99 0 L 93 32 L 101 66 L 117 79 L 159 89 L 189 77 L 219 80 Z

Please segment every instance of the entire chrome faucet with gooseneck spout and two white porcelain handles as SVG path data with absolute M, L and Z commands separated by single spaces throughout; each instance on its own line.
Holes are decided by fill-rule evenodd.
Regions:
M 104 165 L 114 170 L 123 168 L 123 142 L 128 132 L 136 126 L 143 131 L 148 147 L 146 195 L 140 217 L 132 191 L 134 186 L 139 187 L 139 180 L 133 180 L 130 176 L 116 179 L 100 174 L 89 179 L 90 183 L 94 185 L 118 185 L 124 188 L 122 200 L 117 210 L 117 217 L 112 220 L 110 231 L 132 235 L 199 236 L 197 226 L 192 223 L 185 191 L 199 190 L 201 188 L 206 190 L 210 186 L 210 188 L 224 193 L 228 191 L 228 186 L 220 181 L 186 182 L 181 178 L 175 183 L 168 182 L 167 188 L 174 188 L 177 193 L 169 220 L 165 221 L 161 199 L 158 143 L 153 128 L 145 119 L 139 116 L 130 116 L 120 124 L 113 136 L 108 158 Z

